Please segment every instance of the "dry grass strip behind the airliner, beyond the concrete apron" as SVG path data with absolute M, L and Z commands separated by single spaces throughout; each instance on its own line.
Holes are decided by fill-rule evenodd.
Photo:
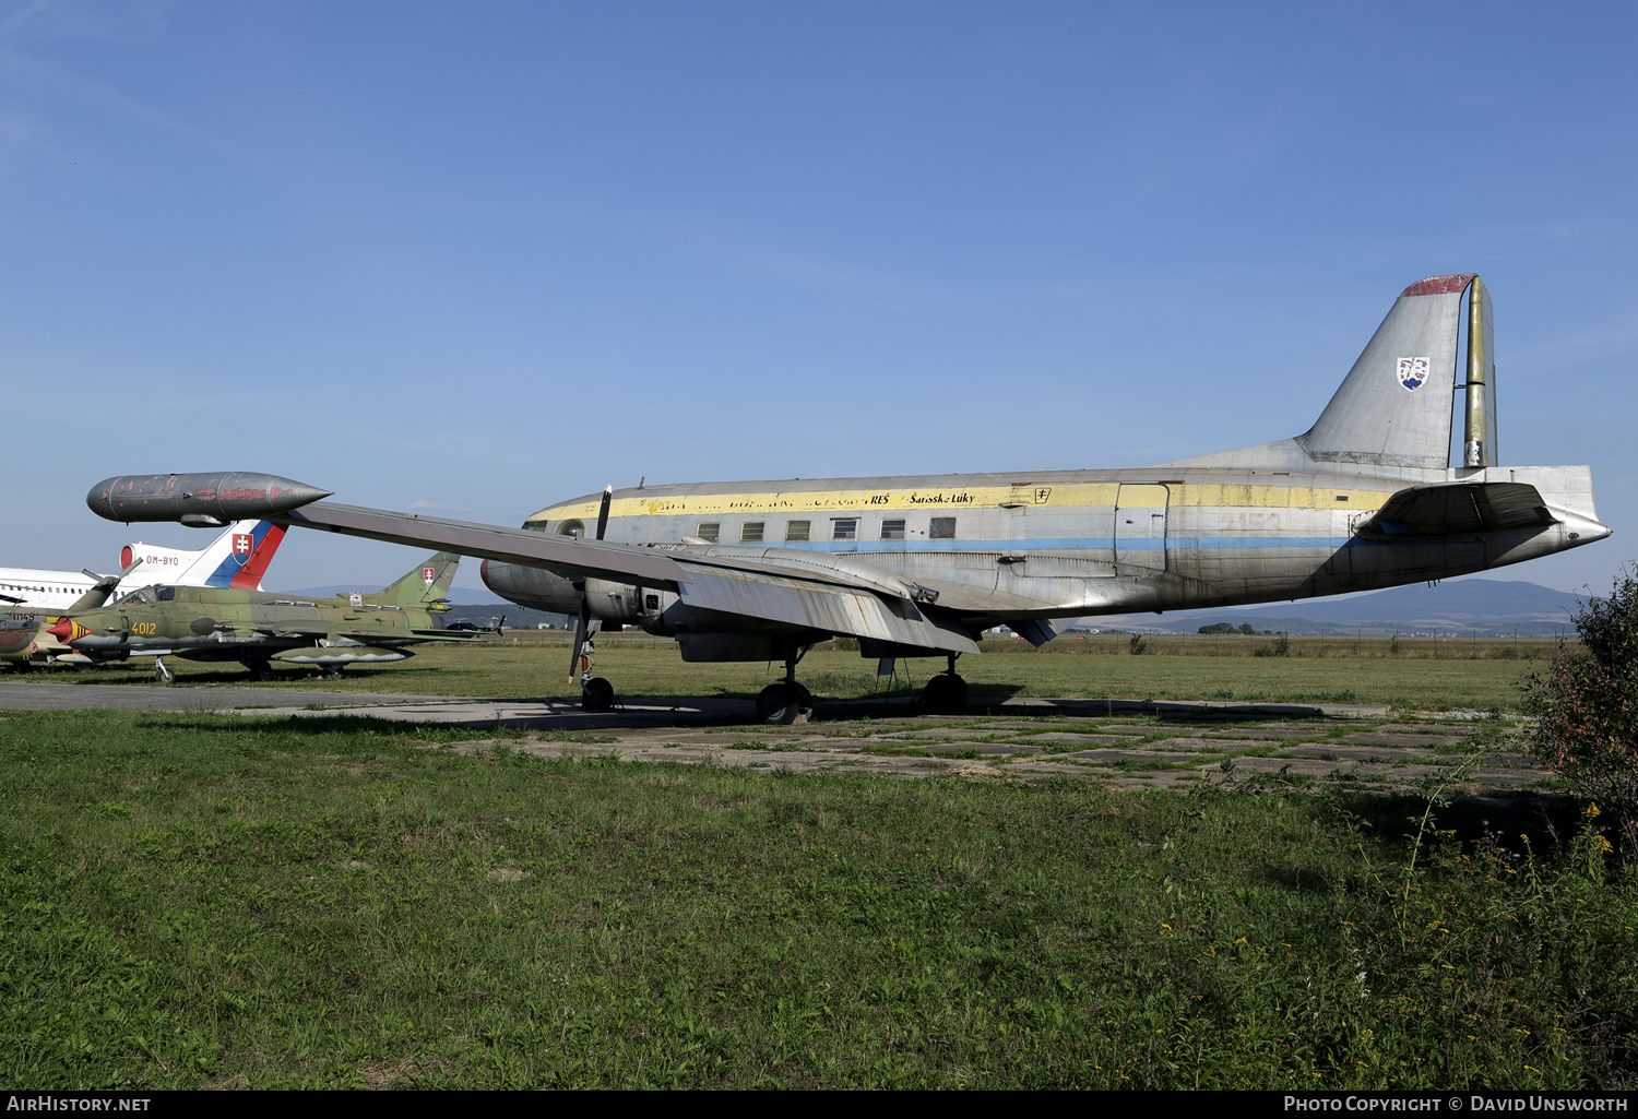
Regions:
M 1173 639 L 1166 639 L 1173 641 Z M 1204 641 L 1204 639 L 1202 639 Z M 1238 641 L 1245 641 L 1240 637 Z M 1261 639 L 1268 641 L 1268 639 Z M 1127 642 L 1122 637 L 1122 646 Z M 1115 700 L 1242 700 L 1292 703 L 1389 703 L 1405 709 L 1518 708 L 1518 685 L 1532 660 L 1512 657 L 1414 655 L 1209 655 L 1194 650 L 1145 655 L 1107 655 L 1102 646 L 1052 642 L 1045 650 L 1024 642 L 986 642 L 989 652 L 963 657 L 962 675 L 973 695 L 1065 696 Z M 1165 641 L 1158 646 L 1165 649 Z M 1482 647 L 1482 646 L 1481 646 Z M 1081 654 L 1084 649 L 1084 655 Z M 1384 646 L 1386 649 L 1386 646 Z M 1510 650 L 1510 642 L 1507 644 Z M 1546 655 L 1550 647 L 1533 652 Z M 1500 652 L 1500 649 L 1497 649 Z M 1525 652 L 1532 652 L 1527 646 Z M 239 665 L 192 664 L 170 659 L 183 683 L 246 685 Z M 1535 662 L 1540 664 L 1540 662 Z M 899 662 L 896 685 L 921 688 L 942 660 Z M 280 678 L 252 686 L 321 688 L 326 691 L 400 691 L 414 695 L 542 696 L 568 695 L 568 646 L 495 642 L 483 646 L 424 646 L 406 662 L 347 670 L 342 680 L 314 680 L 311 672 L 277 668 Z M 668 641 L 606 639 L 598 647 L 598 673 L 614 682 L 622 696 L 755 696 L 781 675 L 768 664 L 683 664 Z M 72 685 L 152 683 L 152 660 L 34 672 L 31 680 Z M 816 649 L 799 668 L 799 678 L 822 698 L 860 698 L 885 691 L 893 682 L 876 677 L 876 662 L 857 652 Z M 3 695 L 0 695 L 3 703 Z

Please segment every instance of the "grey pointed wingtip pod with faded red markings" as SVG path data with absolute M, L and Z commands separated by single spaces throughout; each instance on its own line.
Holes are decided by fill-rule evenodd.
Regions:
M 215 526 L 288 513 L 329 495 L 272 473 L 128 473 L 93 485 L 85 505 L 110 521 Z

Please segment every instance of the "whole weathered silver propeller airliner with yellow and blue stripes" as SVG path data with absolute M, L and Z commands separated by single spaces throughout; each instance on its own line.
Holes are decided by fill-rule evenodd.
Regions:
M 639 485 L 523 529 L 334 505 L 269 475 L 129 475 L 85 501 L 110 521 L 265 516 L 482 555 L 496 593 L 580 614 L 573 670 L 595 709 L 613 701 L 586 655 L 600 623 L 673 636 L 683 660 L 783 660 L 757 703 L 770 723 L 811 703 L 796 662 L 834 634 L 867 657 L 947 657 L 924 700 L 963 709 L 955 659 L 996 624 L 1040 646 L 1055 618 L 1376 590 L 1607 537 L 1587 467 L 1502 465 L 1491 321 L 1479 277 L 1419 280 L 1312 428 L 1137 470 Z

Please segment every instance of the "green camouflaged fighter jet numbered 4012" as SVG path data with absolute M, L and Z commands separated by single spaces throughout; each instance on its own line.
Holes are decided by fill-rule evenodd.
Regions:
M 238 660 L 252 680 L 269 677 L 274 660 L 339 677 L 347 665 L 413 657 L 403 646 L 470 641 L 436 621 L 449 609 L 459 564 L 459 555 L 439 552 L 387 590 L 337 595 L 333 601 L 215 587 L 144 587 L 111 606 L 70 613 L 49 632 L 97 659 L 159 657 L 154 673 L 164 683 L 170 682 L 164 657 L 172 655 Z

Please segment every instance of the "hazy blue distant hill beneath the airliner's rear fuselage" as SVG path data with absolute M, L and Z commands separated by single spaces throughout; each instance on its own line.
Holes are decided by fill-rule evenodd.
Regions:
M 1230 623 L 1291 634 L 1471 634 L 1551 637 L 1574 631 L 1581 598 L 1550 587 L 1495 578 L 1464 578 L 1428 587 L 1394 587 L 1356 598 L 1310 598 L 1260 609 L 1188 609 L 1174 614 L 1086 618 L 1102 629 L 1196 632 L 1201 626 Z

